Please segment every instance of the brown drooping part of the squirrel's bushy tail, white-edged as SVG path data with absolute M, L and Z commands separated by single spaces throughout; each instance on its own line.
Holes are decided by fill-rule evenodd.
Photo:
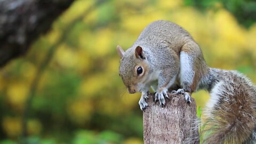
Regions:
M 202 118 L 202 143 L 255 143 L 255 87 L 238 80 L 218 82 L 212 89 Z

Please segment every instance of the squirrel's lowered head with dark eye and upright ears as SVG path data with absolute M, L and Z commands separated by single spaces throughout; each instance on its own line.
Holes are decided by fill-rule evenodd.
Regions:
M 117 53 L 121 57 L 119 75 L 127 87 L 129 93 L 141 91 L 147 80 L 149 65 L 140 46 L 128 49 L 126 52 L 121 46 L 117 46 Z

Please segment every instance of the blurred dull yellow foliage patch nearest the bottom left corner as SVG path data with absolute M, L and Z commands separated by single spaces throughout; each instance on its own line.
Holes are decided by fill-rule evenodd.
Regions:
M 3 117 L 2 127 L 8 137 L 15 138 L 21 133 L 21 118 Z

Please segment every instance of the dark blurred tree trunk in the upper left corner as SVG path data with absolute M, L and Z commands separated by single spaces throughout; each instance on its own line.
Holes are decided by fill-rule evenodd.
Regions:
M 25 54 L 74 0 L 0 0 L 0 67 Z

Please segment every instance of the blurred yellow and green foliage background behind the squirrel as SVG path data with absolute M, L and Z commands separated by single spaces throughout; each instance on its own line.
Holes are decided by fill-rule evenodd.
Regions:
M 154 20 L 182 26 L 207 64 L 256 82 L 256 2 L 77 0 L 25 57 L 0 71 L 0 143 L 143 143 L 140 93 L 118 76 L 116 45 L 128 49 Z M 209 94 L 193 94 L 204 107 Z M 31 106 L 28 105 L 31 100 Z

